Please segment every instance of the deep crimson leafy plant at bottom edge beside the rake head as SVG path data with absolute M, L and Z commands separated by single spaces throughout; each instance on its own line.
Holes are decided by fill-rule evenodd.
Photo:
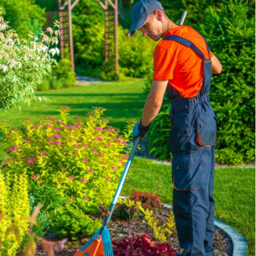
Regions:
M 117 256 L 175 256 L 176 251 L 167 243 L 155 243 L 147 235 L 136 236 L 137 238 L 121 238 L 121 242 L 112 241 L 116 246 L 113 254 Z

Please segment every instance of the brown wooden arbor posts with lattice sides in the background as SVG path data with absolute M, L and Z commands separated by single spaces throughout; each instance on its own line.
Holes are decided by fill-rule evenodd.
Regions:
M 59 4 L 59 19 L 60 19 L 60 50 L 61 58 L 63 58 L 65 45 L 70 48 L 70 57 L 72 70 L 75 70 L 74 64 L 74 49 L 73 49 L 73 34 L 72 34 L 72 17 L 71 11 L 80 0 L 66 0 L 62 4 L 62 0 L 58 0 Z M 105 10 L 105 60 L 109 59 L 111 44 L 115 45 L 115 74 L 118 75 L 118 41 L 117 41 L 117 25 L 118 25 L 118 0 L 104 0 L 104 4 L 100 0 L 96 0 Z M 67 10 L 65 7 L 68 6 Z M 110 8 L 109 8 L 110 7 Z M 114 40 L 114 42 L 112 42 Z

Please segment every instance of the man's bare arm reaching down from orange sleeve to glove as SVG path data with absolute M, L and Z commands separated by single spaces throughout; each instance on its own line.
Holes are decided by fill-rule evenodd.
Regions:
M 152 81 L 151 89 L 142 113 L 143 126 L 148 126 L 158 114 L 162 106 L 167 84 L 168 80 Z

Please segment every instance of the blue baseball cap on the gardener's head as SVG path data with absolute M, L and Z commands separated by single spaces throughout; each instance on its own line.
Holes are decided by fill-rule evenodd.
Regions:
M 156 10 L 164 10 L 161 3 L 157 0 L 141 0 L 132 8 L 132 26 L 128 32 L 128 36 L 132 36 L 135 30 L 142 27 L 149 14 Z

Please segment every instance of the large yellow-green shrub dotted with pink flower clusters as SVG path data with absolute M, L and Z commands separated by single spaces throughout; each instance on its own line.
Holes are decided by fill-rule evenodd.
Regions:
M 68 124 L 69 107 L 59 109 L 60 120 L 24 121 L 24 132 L 7 122 L 0 124 L 8 159 L 4 172 L 26 173 L 35 199 L 55 211 L 57 203 L 76 206 L 85 213 L 109 205 L 128 155 L 124 154 L 131 129 L 124 135 L 100 119 L 102 108 L 86 122 L 76 117 Z

